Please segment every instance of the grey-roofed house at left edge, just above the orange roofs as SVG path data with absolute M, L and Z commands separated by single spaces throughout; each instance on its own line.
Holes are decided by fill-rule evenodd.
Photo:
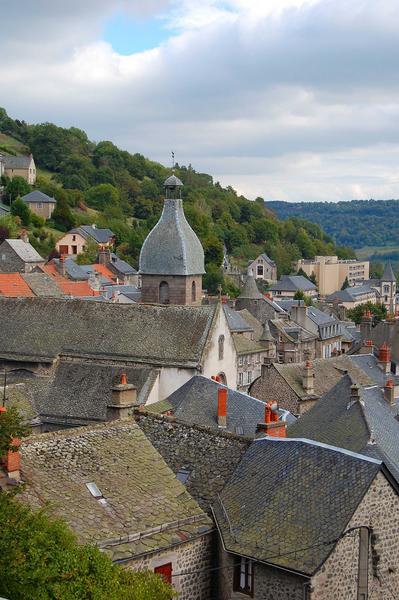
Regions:
M 29 243 L 27 236 L 19 240 L 4 240 L 0 245 L 1 273 L 30 273 L 42 267 L 44 262 L 44 258 Z

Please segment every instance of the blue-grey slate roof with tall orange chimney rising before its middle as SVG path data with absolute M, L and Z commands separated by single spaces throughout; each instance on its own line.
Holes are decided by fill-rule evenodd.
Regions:
M 196 375 L 163 401 L 168 404 L 165 410 L 172 410 L 173 415 L 184 423 L 217 430 L 217 396 L 220 387 L 226 386 L 202 375 Z M 254 437 L 258 423 L 265 421 L 265 403 L 248 394 L 227 389 L 226 431 L 237 433 L 239 428 L 242 428 L 241 435 Z M 287 411 L 281 411 L 280 414 L 284 420 L 288 415 L 287 423 L 295 421 L 295 417 Z

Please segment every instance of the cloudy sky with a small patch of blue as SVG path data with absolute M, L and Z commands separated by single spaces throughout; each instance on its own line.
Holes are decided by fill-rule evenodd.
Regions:
M 399 0 L 0 0 L 0 106 L 249 198 L 399 197 Z

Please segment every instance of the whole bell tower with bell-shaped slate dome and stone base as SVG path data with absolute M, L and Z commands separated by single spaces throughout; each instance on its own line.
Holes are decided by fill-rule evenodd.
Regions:
M 198 306 L 202 301 L 204 251 L 184 215 L 182 185 L 175 175 L 166 179 L 161 218 L 141 248 L 144 303 Z

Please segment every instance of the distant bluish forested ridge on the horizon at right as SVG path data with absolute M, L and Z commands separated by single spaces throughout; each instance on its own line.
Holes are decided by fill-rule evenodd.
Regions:
M 399 200 L 266 202 L 280 219 L 309 219 L 337 244 L 362 248 L 398 244 Z

